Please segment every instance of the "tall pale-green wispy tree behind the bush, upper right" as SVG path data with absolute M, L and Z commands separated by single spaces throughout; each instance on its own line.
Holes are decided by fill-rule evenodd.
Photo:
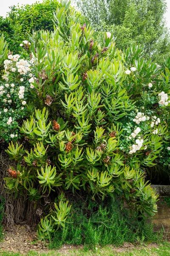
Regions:
M 170 51 L 165 0 L 76 0 L 76 4 L 98 40 L 99 32 L 113 32 L 118 48 L 144 44 L 146 56 L 159 63 Z

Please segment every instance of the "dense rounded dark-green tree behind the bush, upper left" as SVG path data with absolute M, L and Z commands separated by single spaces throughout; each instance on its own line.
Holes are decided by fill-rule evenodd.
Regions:
M 6 18 L 0 17 L 0 35 L 5 35 L 8 48 L 18 53 L 20 43 L 28 37 L 26 33 L 31 34 L 33 29 L 53 30 L 53 12 L 57 6 L 56 0 L 44 0 L 43 3 L 36 2 L 21 7 L 11 6 Z

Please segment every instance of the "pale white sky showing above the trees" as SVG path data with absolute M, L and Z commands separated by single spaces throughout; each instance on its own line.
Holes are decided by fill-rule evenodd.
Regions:
M 36 0 L 0 0 L 0 16 L 5 17 L 6 13 L 9 12 L 9 7 L 8 6 L 17 6 L 19 3 L 21 4 L 32 4 L 35 3 Z M 40 3 L 42 3 L 42 0 L 39 0 Z M 167 0 L 167 13 L 165 15 L 165 18 L 167 20 L 167 26 L 170 28 L 170 0 Z

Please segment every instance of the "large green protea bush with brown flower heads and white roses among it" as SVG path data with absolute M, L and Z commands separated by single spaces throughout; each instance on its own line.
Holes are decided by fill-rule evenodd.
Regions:
M 18 134 L 7 139 L 18 140 L 6 150 L 18 165 L 6 187 L 18 195 L 26 190 L 31 201 L 47 198 L 40 239 L 64 227 L 71 209 L 64 192 L 84 191 L 94 200 L 115 193 L 133 211 L 154 215 L 158 195 L 145 170 L 170 146 L 170 59 L 160 67 L 143 58 L 141 46 L 122 52 L 110 33 L 97 44 L 65 0 L 54 14 L 54 31 L 36 32 L 29 42 L 28 73 L 23 67 L 12 73 L 10 56 L 4 74 L 8 83 L 15 76 L 18 98 L 8 104 L 4 92 L 0 107 Z M 17 83 L 22 76 L 25 88 Z M 19 122 L 11 108 L 21 105 Z

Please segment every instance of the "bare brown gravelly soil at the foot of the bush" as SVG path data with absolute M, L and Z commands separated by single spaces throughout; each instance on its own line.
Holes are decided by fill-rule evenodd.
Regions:
M 125 252 L 135 249 L 142 249 L 146 245 L 134 245 L 130 243 L 125 243 L 123 246 L 114 247 L 111 246 L 111 250 L 114 252 Z M 158 244 L 152 243 L 147 245 L 147 248 L 158 247 Z M 71 246 L 63 245 L 62 248 L 57 250 L 58 253 L 65 254 L 69 256 L 71 250 L 82 249 L 82 246 Z M 15 253 L 20 252 L 23 255 L 30 250 L 35 250 L 38 253 L 48 253 L 51 250 L 48 249 L 48 244 L 43 241 L 36 240 L 36 231 L 32 229 L 28 224 L 24 225 L 14 225 L 12 228 L 4 228 L 4 240 L 0 242 L 0 251 L 13 251 Z M 104 253 L 104 250 L 103 250 Z M 105 253 L 103 254 L 105 255 Z

